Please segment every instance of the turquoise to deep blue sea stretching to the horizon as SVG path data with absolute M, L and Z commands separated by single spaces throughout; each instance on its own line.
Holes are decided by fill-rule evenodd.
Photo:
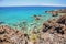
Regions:
M 34 14 L 45 15 L 44 20 L 52 18 L 51 14 L 45 13 L 50 10 L 66 9 L 66 7 L 0 7 L 0 21 L 7 24 L 13 24 L 21 21 L 26 21 L 29 23 L 33 22 Z

